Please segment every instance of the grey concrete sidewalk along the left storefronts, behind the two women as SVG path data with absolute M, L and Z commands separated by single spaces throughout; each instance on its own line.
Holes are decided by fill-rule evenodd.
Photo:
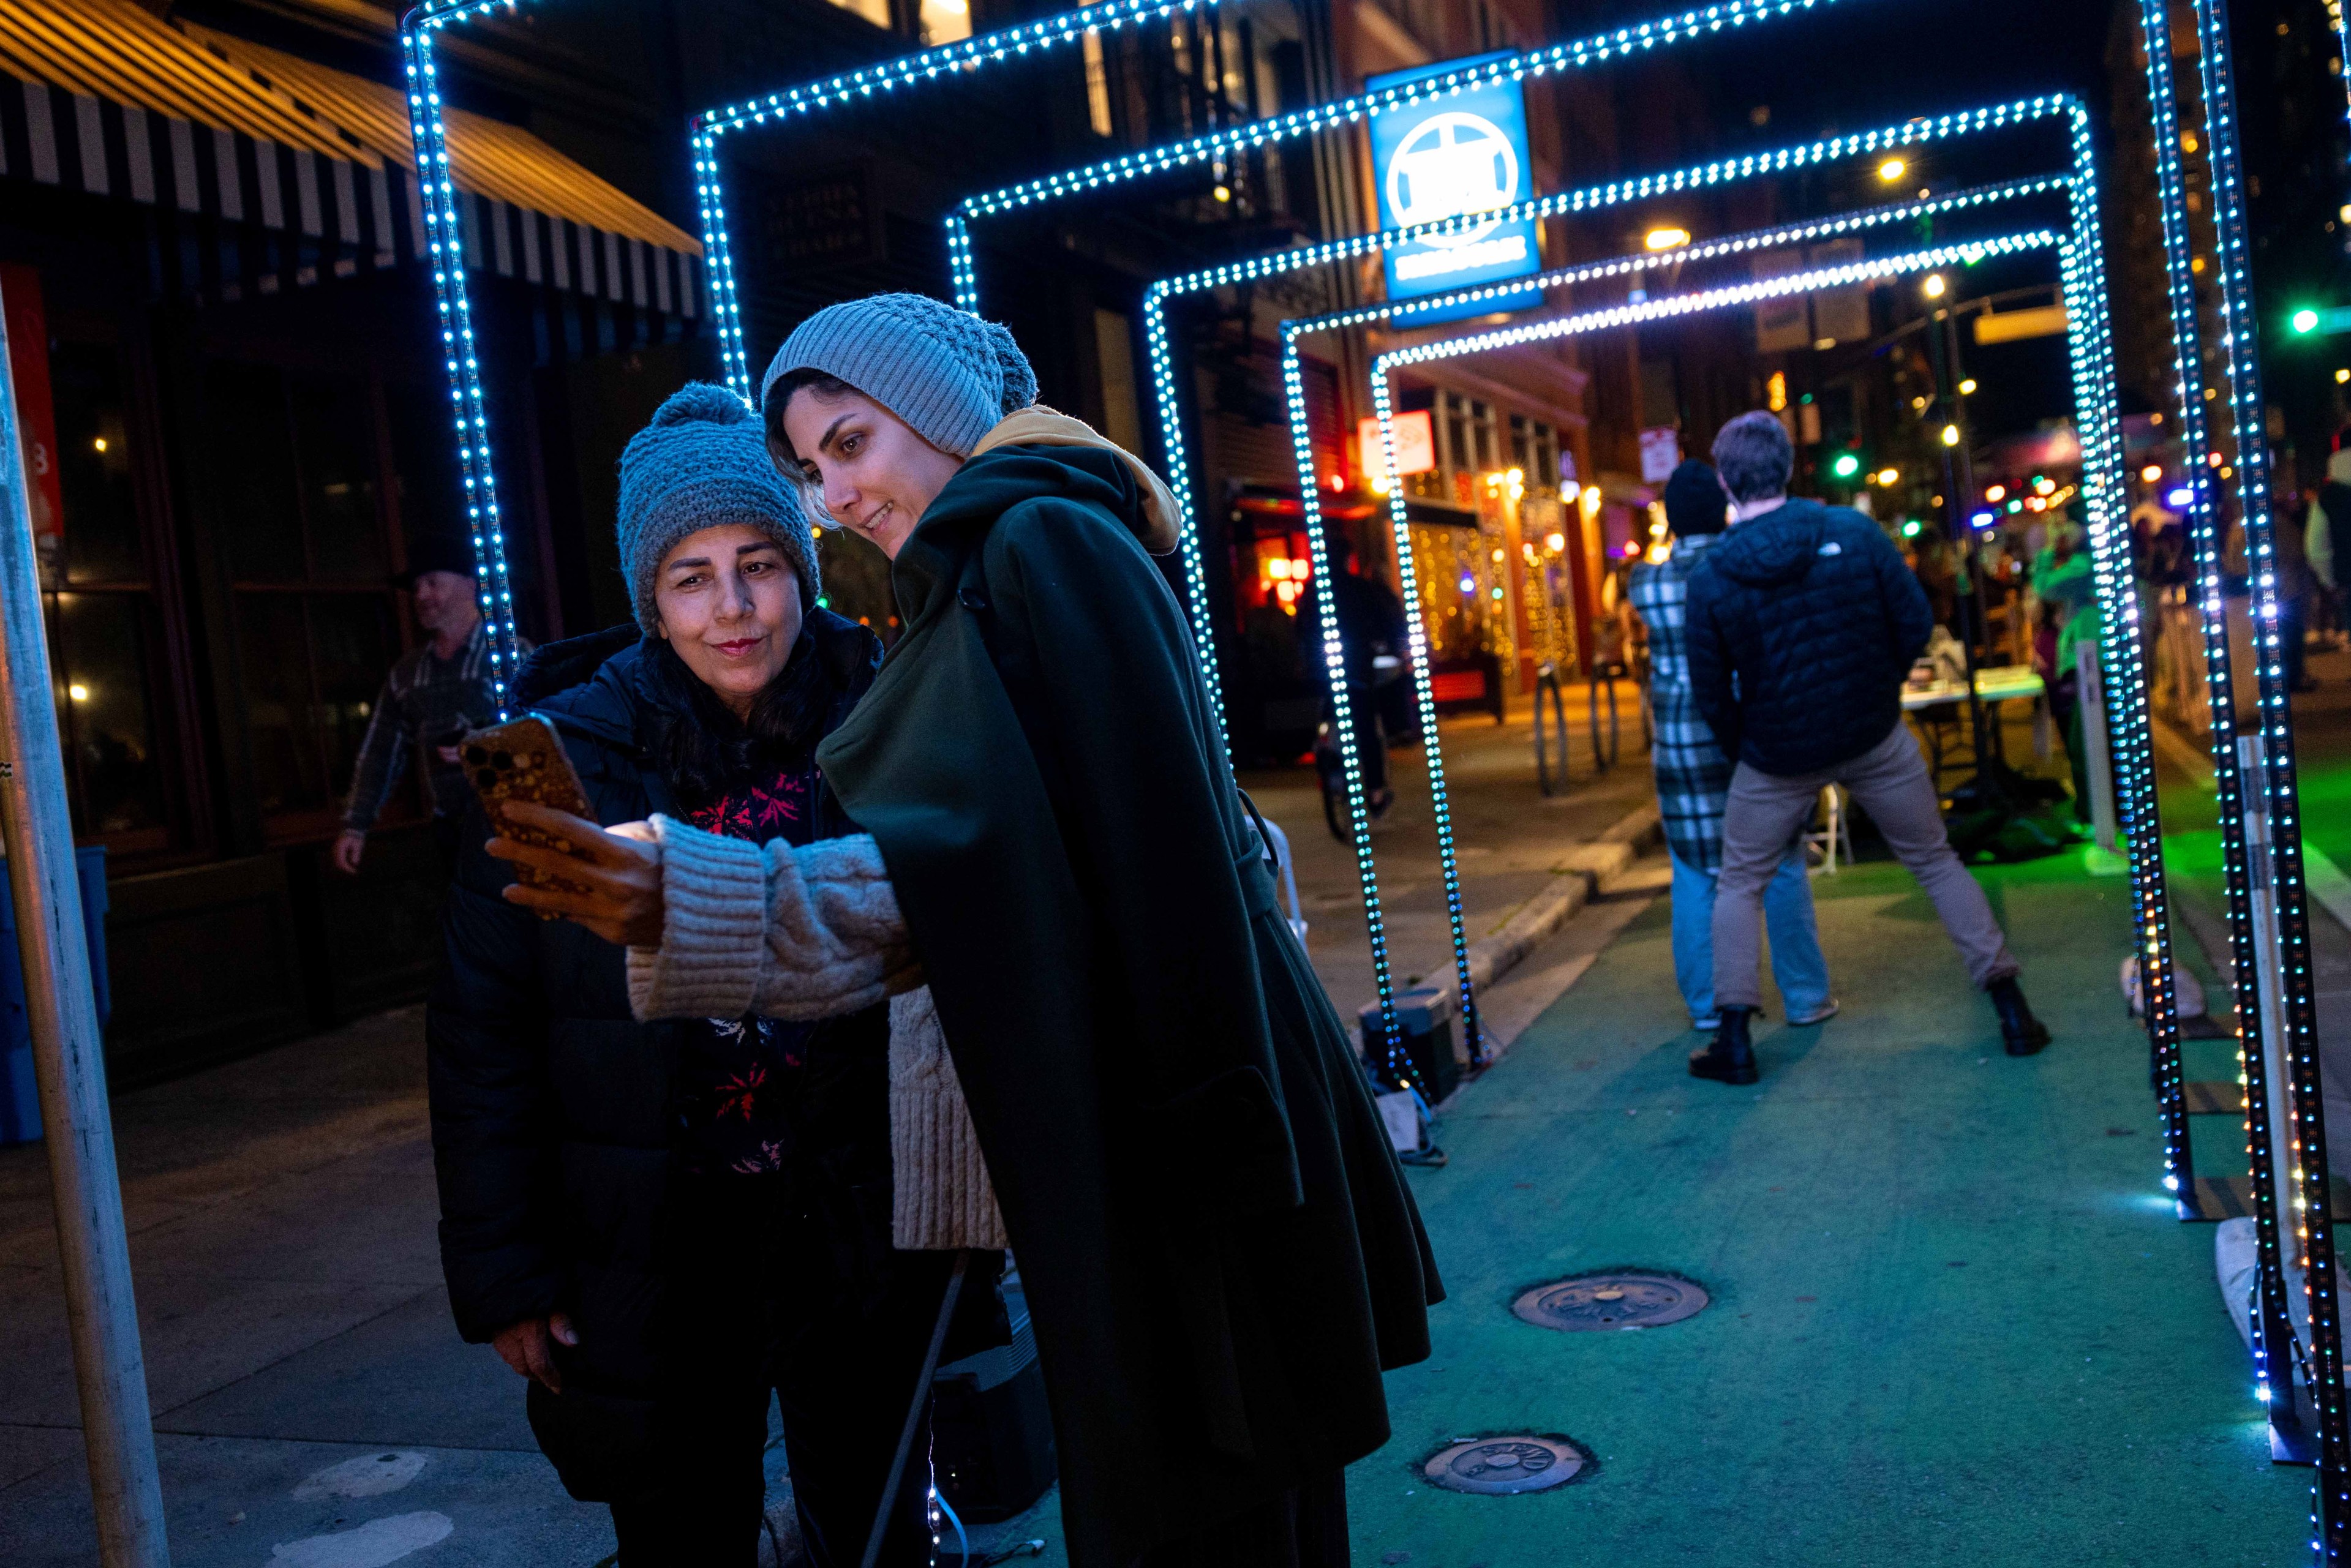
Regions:
M 1582 903 L 1592 867 L 1629 858 L 1625 844 L 1589 844 L 1648 797 L 1639 717 L 1627 719 L 1622 764 L 1594 783 L 1580 748 L 1575 783 L 1554 802 L 1535 790 L 1523 722 L 1448 726 L 1472 936 L 1512 917 L 1521 938 L 1547 933 Z M 1418 755 L 1399 757 L 1396 780 L 1380 865 L 1399 973 L 1439 973 L 1451 947 Z M 1352 1013 L 1373 994 L 1354 856 L 1324 830 L 1312 773 L 1251 785 L 1291 832 L 1319 969 Z M 1601 905 L 1540 943 L 1486 1001 L 1495 1039 L 1540 1013 L 1639 907 Z M 522 1382 L 449 1321 L 423 1009 L 127 1093 L 115 1138 L 179 1568 L 376 1568 L 409 1554 L 590 1568 L 614 1552 L 604 1509 L 571 1502 L 538 1455 Z M 12 1347 L 0 1561 L 87 1563 L 89 1481 L 38 1145 L 0 1150 L 0 1340 Z M 1046 1537 L 1037 1561 L 1060 1561 L 1053 1495 L 976 1535 Z

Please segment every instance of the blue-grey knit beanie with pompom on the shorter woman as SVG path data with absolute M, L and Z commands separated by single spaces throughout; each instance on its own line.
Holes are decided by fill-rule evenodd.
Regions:
M 621 576 L 637 625 L 654 630 L 654 576 L 679 538 L 741 522 L 776 541 L 816 609 L 816 541 L 799 494 L 776 473 L 750 407 L 712 381 L 689 381 L 654 409 L 621 454 Z

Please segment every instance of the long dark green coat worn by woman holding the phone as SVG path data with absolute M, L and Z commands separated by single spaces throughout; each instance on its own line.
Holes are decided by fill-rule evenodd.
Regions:
M 818 752 L 875 835 L 1037 1328 L 1074 1568 L 1387 1441 L 1420 1213 L 1225 762 L 1112 451 L 1004 447 L 891 567 Z

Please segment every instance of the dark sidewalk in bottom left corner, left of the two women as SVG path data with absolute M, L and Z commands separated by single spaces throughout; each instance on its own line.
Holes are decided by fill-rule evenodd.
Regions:
M 588 1568 L 522 1380 L 449 1321 L 423 1009 L 115 1100 L 176 1568 Z M 96 1561 L 49 1171 L 0 1150 L 0 1561 Z

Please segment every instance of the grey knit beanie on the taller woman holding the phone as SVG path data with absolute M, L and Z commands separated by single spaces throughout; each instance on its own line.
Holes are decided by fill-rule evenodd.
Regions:
M 969 458 L 1006 414 L 1037 402 L 1037 371 L 1013 334 L 929 294 L 870 294 L 825 306 L 769 360 L 762 404 L 795 369 L 839 376 L 959 458 Z

